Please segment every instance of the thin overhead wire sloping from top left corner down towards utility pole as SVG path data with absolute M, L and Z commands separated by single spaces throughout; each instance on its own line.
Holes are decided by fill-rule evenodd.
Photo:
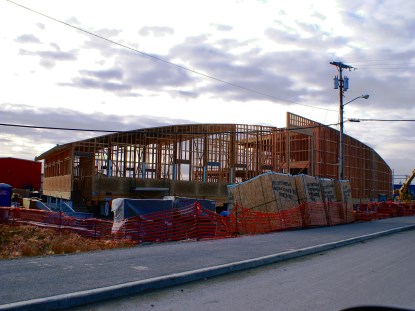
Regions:
M 146 56 L 146 57 L 152 58 L 152 59 L 154 59 L 154 60 L 157 60 L 157 61 L 163 62 L 163 63 L 165 63 L 165 64 L 167 64 L 167 65 L 170 65 L 170 66 L 173 66 L 173 67 L 176 67 L 176 68 L 182 69 L 182 70 L 186 70 L 186 71 L 189 71 L 189 72 L 191 72 L 191 73 L 194 73 L 194 74 L 200 75 L 200 76 L 202 76 L 202 77 L 205 77 L 205 78 L 208 78 L 208 79 L 214 80 L 214 81 L 216 81 L 216 82 L 224 83 L 224 84 L 227 84 L 227 85 L 229 85 L 229 86 L 232 86 L 232 87 L 235 87 L 235 88 L 238 88 L 238 89 L 241 89 L 241 90 L 247 91 L 247 92 L 255 93 L 255 94 L 257 94 L 257 95 L 265 96 L 265 97 L 268 97 L 268 98 L 271 98 L 271 99 L 276 99 L 276 100 L 283 101 L 283 102 L 289 102 L 289 103 L 292 103 L 292 104 L 296 104 L 296 105 L 300 105 L 300 106 L 306 106 L 306 107 L 310 107 L 310 108 L 314 108 L 314 109 L 321 109 L 321 110 L 327 110 L 327 111 L 335 111 L 335 112 L 337 112 L 337 110 L 334 110 L 334 109 L 322 108 L 322 107 L 317 107 L 317 106 L 312 106 L 312 105 L 307 105 L 307 104 L 300 104 L 300 103 L 297 103 L 297 102 L 295 102 L 295 101 L 291 101 L 291 100 L 288 100 L 288 99 L 284 99 L 284 98 L 281 98 L 281 97 L 277 97 L 277 96 L 274 96 L 274 95 L 271 95 L 271 94 L 267 94 L 267 93 L 264 93 L 264 92 L 261 92 L 261 91 L 257 91 L 257 90 L 254 90 L 254 89 L 251 89 L 251 88 L 248 88 L 248 87 L 244 87 L 244 86 L 241 86 L 241 85 L 237 85 L 237 84 L 235 84 L 235 83 L 228 82 L 228 81 L 222 80 L 222 79 L 220 79 L 220 78 L 216 78 L 216 77 L 210 76 L 210 75 L 205 74 L 205 73 L 202 73 L 202 72 L 200 72 L 200 71 L 196 71 L 196 70 L 194 70 L 194 69 L 191 69 L 191 68 L 188 68 L 188 67 L 185 67 L 185 66 L 179 65 L 179 64 L 175 64 L 175 63 L 173 63 L 173 62 L 170 62 L 170 61 L 165 60 L 165 59 L 163 59 L 163 58 L 160 58 L 160 57 L 158 57 L 158 56 L 155 56 L 155 55 L 152 55 L 152 54 L 149 54 L 149 53 L 146 53 L 146 52 L 143 52 L 143 51 L 137 50 L 137 49 L 132 48 L 132 47 L 130 47 L 130 46 L 128 46 L 128 45 L 125 45 L 125 44 L 119 43 L 119 42 L 117 42 L 117 41 L 114 41 L 114 40 L 111 40 L 111 39 L 108 39 L 108 38 L 105 38 L 105 37 L 103 37 L 103 36 L 100 36 L 100 35 L 98 35 L 98 34 L 96 34 L 96 33 L 93 33 L 93 32 L 91 32 L 91 31 L 85 30 L 85 29 L 83 29 L 83 28 L 80 28 L 80 27 L 77 27 L 77 26 L 71 25 L 71 24 L 66 23 L 66 22 L 64 22 L 64 21 L 61 21 L 61 20 L 59 20 L 59 19 L 57 19 L 57 18 L 54 18 L 54 17 L 49 16 L 49 15 L 47 15 L 47 14 L 44 14 L 44 13 L 42 13 L 42 12 L 39 12 L 39 11 L 33 10 L 33 9 L 31 9 L 31 8 L 29 8 L 29 7 L 26 7 L 26 6 L 24 6 L 24 5 L 21 5 L 21 4 L 19 4 L 19 3 L 16 3 L 16 2 L 14 2 L 14 1 L 11 1 L 11 0 L 6 0 L 6 1 L 7 1 L 7 2 L 10 2 L 10 3 L 12 3 L 12 4 L 16 5 L 16 6 L 19 6 L 19 7 L 23 8 L 23 9 L 26 9 L 26 10 L 28 10 L 28 11 L 32 12 L 32 13 L 35 13 L 35 14 L 41 15 L 41 16 L 43 16 L 43 17 L 45 17 L 45 18 L 51 19 L 51 20 L 53 20 L 53 21 L 55 21 L 55 22 L 61 23 L 61 24 L 65 25 L 65 26 L 71 27 L 71 28 L 73 28 L 73 29 L 76 29 L 76 30 L 81 31 L 81 32 L 83 32 L 83 33 L 86 33 L 86 34 L 88 34 L 88 35 L 91 35 L 91 36 L 94 36 L 94 37 L 99 38 L 99 39 L 101 39 L 101 40 L 107 41 L 107 42 L 109 42 L 109 43 L 112 43 L 112 44 L 115 44 L 115 45 L 121 46 L 121 47 L 123 47 L 123 48 L 125 48 L 125 49 L 128 49 L 128 50 L 131 50 L 131 51 L 133 51 L 133 52 L 139 53 L 139 54 L 141 54 L 141 55 L 143 55 L 143 56 Z

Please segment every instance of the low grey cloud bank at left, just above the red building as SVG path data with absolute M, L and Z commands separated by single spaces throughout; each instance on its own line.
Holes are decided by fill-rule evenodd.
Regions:
M 103 113 L 86 114 L 70 109 L 40 110 L 28 105 L 0 105 L 2 124 L 56 127 L 68 129 L 90 129 L 129 131 L 148 127 L 191 123 L 189 120 L 160 118 L 153 116 L 115 116 Z M 13 156 L 18 150 L 20 158 L 33 159 L 56 144 L 105 135 L 102 132 L 84 132 L 57 129 L 33 129 L 16 126 L 0 126 L 0 150 L 2 156 Z M 37 153 L 37 154 L 36 154 Z

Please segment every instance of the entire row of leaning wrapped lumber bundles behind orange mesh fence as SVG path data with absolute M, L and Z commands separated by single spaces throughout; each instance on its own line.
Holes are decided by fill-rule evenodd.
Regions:
M 235 227 L 243 231 L 240 233 L 336 225 L 355 220 L 347 180 L 268 172 L 228 186 L 228 194 L 234 206 Z

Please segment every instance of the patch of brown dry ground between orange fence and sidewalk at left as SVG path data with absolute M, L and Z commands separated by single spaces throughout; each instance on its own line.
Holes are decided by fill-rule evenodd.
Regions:
M 0 225 L 0 259 L 79 253 L 134 245 L 129 241 L 84 238 L 71 232 L 35 226 Z

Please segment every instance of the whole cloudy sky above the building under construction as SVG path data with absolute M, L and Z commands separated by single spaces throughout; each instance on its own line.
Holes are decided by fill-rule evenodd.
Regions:
M 0 0 L 0 157 L 34 159 L 96 132 L 174 124 L 285 127 L 415 119 L 415 1 Z M 394 174 L 415 169 L 413 122 L 345 123 Z M 338 126 L 333 125 L 338 129 Z

